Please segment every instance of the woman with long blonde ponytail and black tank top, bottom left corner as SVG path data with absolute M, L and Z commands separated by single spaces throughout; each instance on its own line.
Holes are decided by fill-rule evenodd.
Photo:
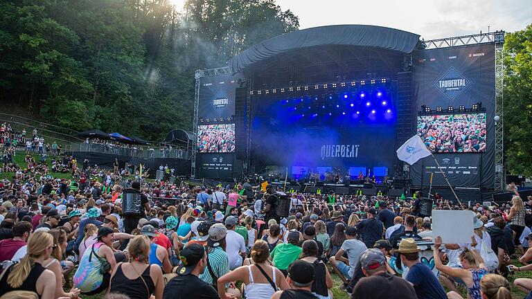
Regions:
M 55 298 L 55 275 L 42 266 L 50 258 L 53 237 L 38 231 L 28 238 L 28 253 L 6 269 L 0 280 L 0 296 L 10 291 L 31 291 L 42 299 Z

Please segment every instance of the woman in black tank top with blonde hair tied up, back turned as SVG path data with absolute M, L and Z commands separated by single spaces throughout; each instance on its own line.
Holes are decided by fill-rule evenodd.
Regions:
M 163 297 L 164 280 L 161 267 L 149 264 L 150 239 L 139 235 L 129 244 L 129 262 L 118 263 L 111 275 L 110 293 L 121 293 L 129 298 L 155 299 Z

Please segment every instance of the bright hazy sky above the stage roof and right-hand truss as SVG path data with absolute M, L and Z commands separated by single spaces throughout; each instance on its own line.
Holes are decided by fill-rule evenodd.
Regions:
M 365 24 L 438 39 L 522 30 L 532 23 L 532 0 L 276 0 L 299 17 L 300 29 Z

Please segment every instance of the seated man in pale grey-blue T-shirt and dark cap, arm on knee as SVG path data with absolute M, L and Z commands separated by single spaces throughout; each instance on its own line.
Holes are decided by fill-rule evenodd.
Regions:
M 357 228 L 353 226 L 346 227 L 346 240 L 336 255 L 329 259 L 330 264 L 333 266 L 332 269 L 339 274 L 344 282 L 353 277 L 358 259 L 366 249 L 366 244 L 357 239 Z M 347 254 L 348 258 L 344 257 L 344 253 Z

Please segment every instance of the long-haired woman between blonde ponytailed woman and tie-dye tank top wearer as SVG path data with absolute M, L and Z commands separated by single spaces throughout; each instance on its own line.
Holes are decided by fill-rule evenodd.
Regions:
M 80 290 L 76 287 L 67 293 L 63 290 L 63 278 L 69 282 L 69 274 L 74 269 L 73 262 L 64 260 L 64 252 L 67 251 L 67 232 L 62 228 L 53 228 L 48 231 L 53 236 L 53 248 L 51 257 L 44 261 L 44 268 L 51 270 L 55 274 L 55 298 L 69 297 L 77 298 Z

